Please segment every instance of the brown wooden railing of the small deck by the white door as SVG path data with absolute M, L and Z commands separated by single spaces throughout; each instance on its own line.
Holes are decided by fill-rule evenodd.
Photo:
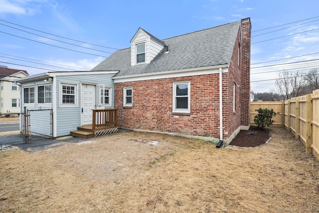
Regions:
M 92 109 L 92 132 L 118 126 L 118 109 Z

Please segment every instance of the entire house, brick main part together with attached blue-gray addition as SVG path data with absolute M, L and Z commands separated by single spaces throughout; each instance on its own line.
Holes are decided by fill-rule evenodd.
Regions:
M 21 107 L 52 108 L 54 137 L 116 108 L 119 127 L 229 143 L 250 126 L 250 37 L 250 18 L 163 40 L 139 28 L 92 71 L 17 80 Z

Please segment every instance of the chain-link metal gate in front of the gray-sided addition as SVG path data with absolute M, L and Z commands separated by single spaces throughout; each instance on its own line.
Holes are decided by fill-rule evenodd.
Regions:
M 52 109 L 26 109 L 21 113 L 23 142 L 53 137 Z

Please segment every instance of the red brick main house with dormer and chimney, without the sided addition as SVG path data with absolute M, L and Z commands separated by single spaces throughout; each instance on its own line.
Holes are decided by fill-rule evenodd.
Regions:
M 250 39 L 250 18 L 163 40 L 139 28 L 92 71 L 119 71 L 120 127 L 229 143 L 250 126 Z

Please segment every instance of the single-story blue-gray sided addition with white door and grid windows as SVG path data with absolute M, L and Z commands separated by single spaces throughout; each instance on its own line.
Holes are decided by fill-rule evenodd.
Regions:
M 52 109 L 53 137 L 69 135 L 78 126 L 92 124 L 92 110 L 114 108 L 112 76 L 117 71 L 47 72 L 17 80 L 21 110 Z M 39 113 L 39 112 L 37 112 Z M 50 114 L 31 114 L 31 132 L 50 135 Z M 47 118 L 42 119 L 46 116 Z

